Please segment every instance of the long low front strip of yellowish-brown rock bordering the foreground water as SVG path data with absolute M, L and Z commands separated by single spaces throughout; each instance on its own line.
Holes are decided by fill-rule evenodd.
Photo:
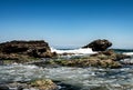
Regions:
M 119 61 L 113 61 L 112 59 L 100 59 L 98 57 L 90 57 L 84 59 L 70 59 L 70 60 L 49 60 L 45 62 L 34 62 L 33 64 L 39 67 L 101 67 L 101 68 L 121 68 L 122 64 Z

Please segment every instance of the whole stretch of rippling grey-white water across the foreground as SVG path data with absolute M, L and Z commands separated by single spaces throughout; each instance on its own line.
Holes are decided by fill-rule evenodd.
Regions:
M 0 82 L 29 81 L 38 78 L 49 78 L 63 83 L 90 90 L 94 87 L 105 87 L 105 90 L 132 90 L 133 67 L 122 69 L 98 68 L 38 68 L 35 66 L 0 66 Z

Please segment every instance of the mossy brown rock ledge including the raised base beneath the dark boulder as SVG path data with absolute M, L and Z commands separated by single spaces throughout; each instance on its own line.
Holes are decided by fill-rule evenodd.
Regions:
M 58 60 L 47 60 L 44 62 L 34 62 L 33 64 L 39 67 L 101 67 L 101 68 L 121 68 L 121 59 L 130 58 L 124 54 L 115 53 L 113 50 L 101 51 L 92 56 L 85 56 L 82 58 L 70 58 L 68 59 L 58 59 Z

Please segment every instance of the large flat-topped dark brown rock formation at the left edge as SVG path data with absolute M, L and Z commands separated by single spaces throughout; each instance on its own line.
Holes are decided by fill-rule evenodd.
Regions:
M 50 58 L 53 53 L 48 42 L 40 41 L 10 41 L 0 43 L 0 59 L 20 58 Z

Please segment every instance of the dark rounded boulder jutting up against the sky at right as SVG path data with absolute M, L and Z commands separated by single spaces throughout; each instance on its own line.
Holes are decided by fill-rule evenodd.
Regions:
M 92 48 L 93 51 L 105 51 L 112 43 L 109 40 L 94 40 L 91 43 L 84 46 L 83 48 Z

